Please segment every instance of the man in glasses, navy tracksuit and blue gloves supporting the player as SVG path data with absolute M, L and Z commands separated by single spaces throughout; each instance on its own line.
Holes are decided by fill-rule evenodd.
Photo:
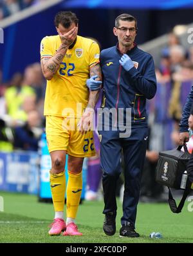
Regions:
M 136 208 L 140 195 L 140 177 L 147 147 L 147 114 L 145 101 L 156 93 L 154 62 L 150 54 L 140 50 L 134 39 L 137 21 L 129 14 L 121 14 L 115 19 L 113 32 L 118 37 L 115 47 L 102 50 L 100 64 L 104 76 L 104 100 L 102 107 L 131 109 L 131 135 L 120 138 L 117 131 L 99 131 L 101 140 L 101 166 L 104 171 L 104 232 L 114 235 L 116 231 L 116 181 L 120 175 L 120 155 L 123 149 L 125 161 L 125 190 L 121 237 L 139 237 L 134 230 Z M 89 89 L 97 89 L 90 80 Z M 128 116 L 127 116 L 128 118 Z M 112 120 L 110 120 L 111 123 Z M 126 115 L 124 116 L 124 123 Z M 118 127 L 120 123 L 118 122 Z

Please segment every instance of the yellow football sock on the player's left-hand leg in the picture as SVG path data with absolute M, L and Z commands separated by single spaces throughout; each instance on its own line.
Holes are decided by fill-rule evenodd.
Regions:
M 59 174 L 50 173 L 50 187 L 55 211 L 64 211 L 64 194 L 66 189 L 66 176 L 64 171 Z

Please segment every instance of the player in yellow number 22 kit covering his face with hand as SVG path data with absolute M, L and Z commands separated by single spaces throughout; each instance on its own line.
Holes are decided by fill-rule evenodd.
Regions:
M 55 16 L 57 36 L 41 41 L 41 67 L 47 81 L 44 115 L 51 156 L 50 186 L 55 218 L 50 235 L 82 235 L 75 224 L 82 191 L 82 164 L 95 155 L 90 131 L 98 90 L 89 91 L 87 81 L 101 85 L 98 44 L 77 35 L 78 19 L 72 12 Z M 69 124 L 70 123 L 70 124 Z M 78 129 L 77 129 L 78 127 Z M 68 154 L 68 185 L 64 167 Z M 66 170 L 67 171 L 67 170 Z M 64 193 L 66 191 L 66 222 Z

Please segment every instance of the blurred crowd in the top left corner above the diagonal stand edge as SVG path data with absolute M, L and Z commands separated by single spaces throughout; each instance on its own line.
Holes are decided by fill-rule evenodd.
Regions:
M 46 0 L 0 0 L 0 20 Z

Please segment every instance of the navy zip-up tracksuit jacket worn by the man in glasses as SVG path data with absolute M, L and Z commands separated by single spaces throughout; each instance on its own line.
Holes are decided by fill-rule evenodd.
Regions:
M 117 46 L 102 50 L 100 54 L 104 76 L 102 107 L 131 108 L 131 127 L 147 127 L 146 99 L 156 94 L 154 61 L 136 44 L 127 55 L 134 63 L 129 71 L 119 63 L 122 53 Z

